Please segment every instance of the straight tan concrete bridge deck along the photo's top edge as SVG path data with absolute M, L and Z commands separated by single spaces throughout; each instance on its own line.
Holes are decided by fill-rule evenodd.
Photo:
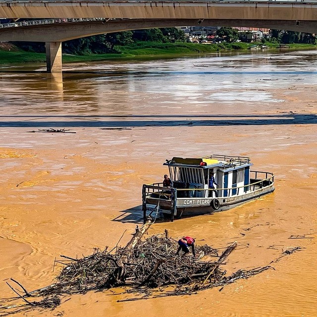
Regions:
M 315 21 L 317 1 L 0 1 L 1 18 L 259 19 Z

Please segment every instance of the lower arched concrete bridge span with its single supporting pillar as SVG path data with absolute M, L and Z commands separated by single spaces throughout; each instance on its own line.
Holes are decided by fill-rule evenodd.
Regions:
M 245 26 L 317 33 L 316 21 L 242 19 L 128 19 L 76 22 L 0 29 L 0 41 L 46 42 L 48 72 L 62 71 L 61 42 L 128 30 L 175 26 Z

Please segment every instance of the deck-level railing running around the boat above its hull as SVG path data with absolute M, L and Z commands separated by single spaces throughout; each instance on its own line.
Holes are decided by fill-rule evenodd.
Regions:
M 232 192 L 235 191 L 234 195 L 239 195 L 241 191 L 247 192 L 247 191 L 256 191 L 260 190 L 262 188 L 268 187 L 274 182 L 274 174 L 270 172 L 262 172 L 262 171 L 250 171 L 255 177 L 250 177 L 250 184 L 239 186 L 239 187 L 229 187 L 229 188 L 215 188 L 215 189 L 205 189 L 205 188 L 169 188 L 169 187 L 163 187 L 163 183 L 154 183 L 151 185 L 144 185 L 145 186 L 145 192 L 148 194 L 151 193 L 160 193 L 164 191 L 170 191 L 172 194 L 174 194 L 177 197 L 177 192 L 204 192 L 206 191 L 211 192 L 216 190 L 218 193 L 223 191 L 223 196 L 219 196 L 218 198 L 227 198 L 230 197 Z M 252 175 L 251 174 L 251 175 Z M 265 175 L 265 178 L 258 179 L 259 175 Z M 174 196 L 172 195 L 172 196 Z M 205 195 L 203 195 L 205 197 Z M 168 194 L 167 194 L 168 197 Z

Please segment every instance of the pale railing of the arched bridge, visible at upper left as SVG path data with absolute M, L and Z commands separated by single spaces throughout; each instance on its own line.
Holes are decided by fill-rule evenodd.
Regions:
M 76 22 L 107 22 L 109 19 L 106 18 L 58 18 L 58 19 L 45 19 L 45 20 L 32 20 L 32 21 L 21 21 L 0 24 L 0 29 L 43 25 L 43 24 L 55 24 L 55 23 L 76 23 Z

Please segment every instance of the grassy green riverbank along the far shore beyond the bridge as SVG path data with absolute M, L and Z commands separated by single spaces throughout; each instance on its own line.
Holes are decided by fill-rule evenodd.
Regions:
M 71 55 L 63 54 L 64 62 L 76 61 L 100 61 L 109 59 L 130 59 L 146 57 L 163 57 L 163 56 L 180 56 L 186 54 L 215 53 L 248 50 L 255 43 L 220 43 L 220 44 L 196 44 L 196 43 L 151 43 L 139 42 L 131 46 L 116 47 L 121 53 L 113 54 L 88 54 L 88 55 Z M 261 45 L 261 44 L 259 44 Z M 265 43 L 270 50 L 278 50 L 279 44 Z M 316 45 L 310 44 L 290 44 L 289 49 L 314 49 Z M 14 45 L 0 43 L 0 64 L 21 64 L 32 62 L 46 62 L 45 53 L 25 52 Z

